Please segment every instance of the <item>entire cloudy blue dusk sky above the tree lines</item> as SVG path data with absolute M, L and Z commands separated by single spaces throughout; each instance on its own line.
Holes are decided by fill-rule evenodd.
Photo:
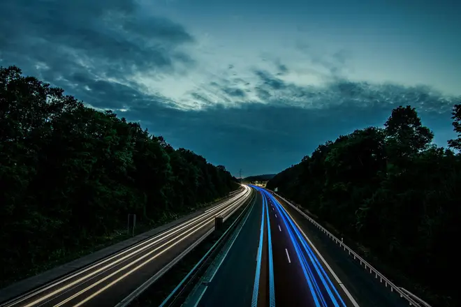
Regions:
M 458 0 L 2 0 L 0 66 L 139 121 L 232 174 L 271 174 L 416 107 L 461 102 Z

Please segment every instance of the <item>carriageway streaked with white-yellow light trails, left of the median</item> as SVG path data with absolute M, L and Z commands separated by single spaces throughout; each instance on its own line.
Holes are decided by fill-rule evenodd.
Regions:
M 3 306 L 115 306 L 138 286 L 168 266 L 214 228 L 214 217 L 226 219 L 249 200 L 244 186 L 228 200 L 203 214 L 139 244 L 68 274 Z

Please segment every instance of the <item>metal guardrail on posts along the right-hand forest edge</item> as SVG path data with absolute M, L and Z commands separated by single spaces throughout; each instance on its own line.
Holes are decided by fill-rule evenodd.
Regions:
M 369 271 L 370 274 L 374 274 L 375 278 L 379 278 L 379 281 L 381 283 L 384 283 L 386 287 L 390 288 L 390 292 L 397 292 L 400 294 L 400 297 L 403 299 L 406 299 L 409 303 L 409 306 L 415 306 L 415 307 L 431 307 L 429 304 L 427 304 L 423 299 L 420 299 L 419 297 L 416 297 L 415 294 L 412 294 L 411 292 L 403 289 L 402 287 L 397 287 L 394 283 L 392 283 L 386 276 L 383 276 L 383 274 L 379 273 L 378 270 L 374 269 L 372 265 L 370 265 L 368 262 L 366 262 L 358 253 L 354 252 L 349 246 L 346 246 L 342 242 L 342 240 L 339 240 L 337 237 L 335 237 L 331 232 L 326 230 L 322 225 L 317 223 L 313 218 L 305 214 L 303 211 L 301 211 L 295 204 L 292 204 L 288 200 L 286 200 L 284 197 L 281 197 L 279 194 L 275 193 L 278 197 L 280 197 L 284 202 L 289 204 L 293 209 L 298 211 L 302 216 L 307 218 L 311 223 L 313 223 L 319 230 L 321 230 L 323 233 L 325 233 L 330 239 L 332 239 L 336 244 L 339 244 L 339 247 L 344 248 L 347 252 L 349 252 L 349 255 L 353 256 L 354 260 L 358 260 L 360 262 L 360 265 L 364 266 L 367 271 Z

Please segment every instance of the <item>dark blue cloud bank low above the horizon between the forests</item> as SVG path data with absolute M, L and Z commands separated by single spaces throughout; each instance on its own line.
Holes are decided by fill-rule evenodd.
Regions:
M 271 76 L 263 74 L 264 80 Z M 203 110 L 131 107 L 124 116 L 152 121 L 155 133 L 163 134 L 173 146 L 193 149 L 213 163 L 226 165 L 237 174 L 279 172 L 327 140 L 357 128 L 382 126 L 398 105 L 417 108 L 423 124 L 436 130 L 436 142 L 446 146 L 453 137 L 451 107 L 457 100 L 444 98 L 428 87 L 402 87 L 396 84 L 331 82 L 323 88 L 304 89 L 284 84 L 278 101 L 271 100 L 271 84 L 260 89 L 268 103 L 226 107 L 210 104 Z M 315 103 L 306 107 L 293 103 L 293 97 Z M 301 100 L 301 99 L 300 99 Z M 174 123 L 174 124 L 172 124 Z M 437 131 L 443 135 L 437 137 Z

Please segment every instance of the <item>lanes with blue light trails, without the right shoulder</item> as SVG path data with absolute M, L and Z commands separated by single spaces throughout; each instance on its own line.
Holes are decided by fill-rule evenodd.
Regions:
M 268 191 L 259 191 L 242 230 L 191 306 L 358 307 Z M 346 291 L 346 292 L 345 292 Z M 187 305 L 189 306 L 189 305 Z

